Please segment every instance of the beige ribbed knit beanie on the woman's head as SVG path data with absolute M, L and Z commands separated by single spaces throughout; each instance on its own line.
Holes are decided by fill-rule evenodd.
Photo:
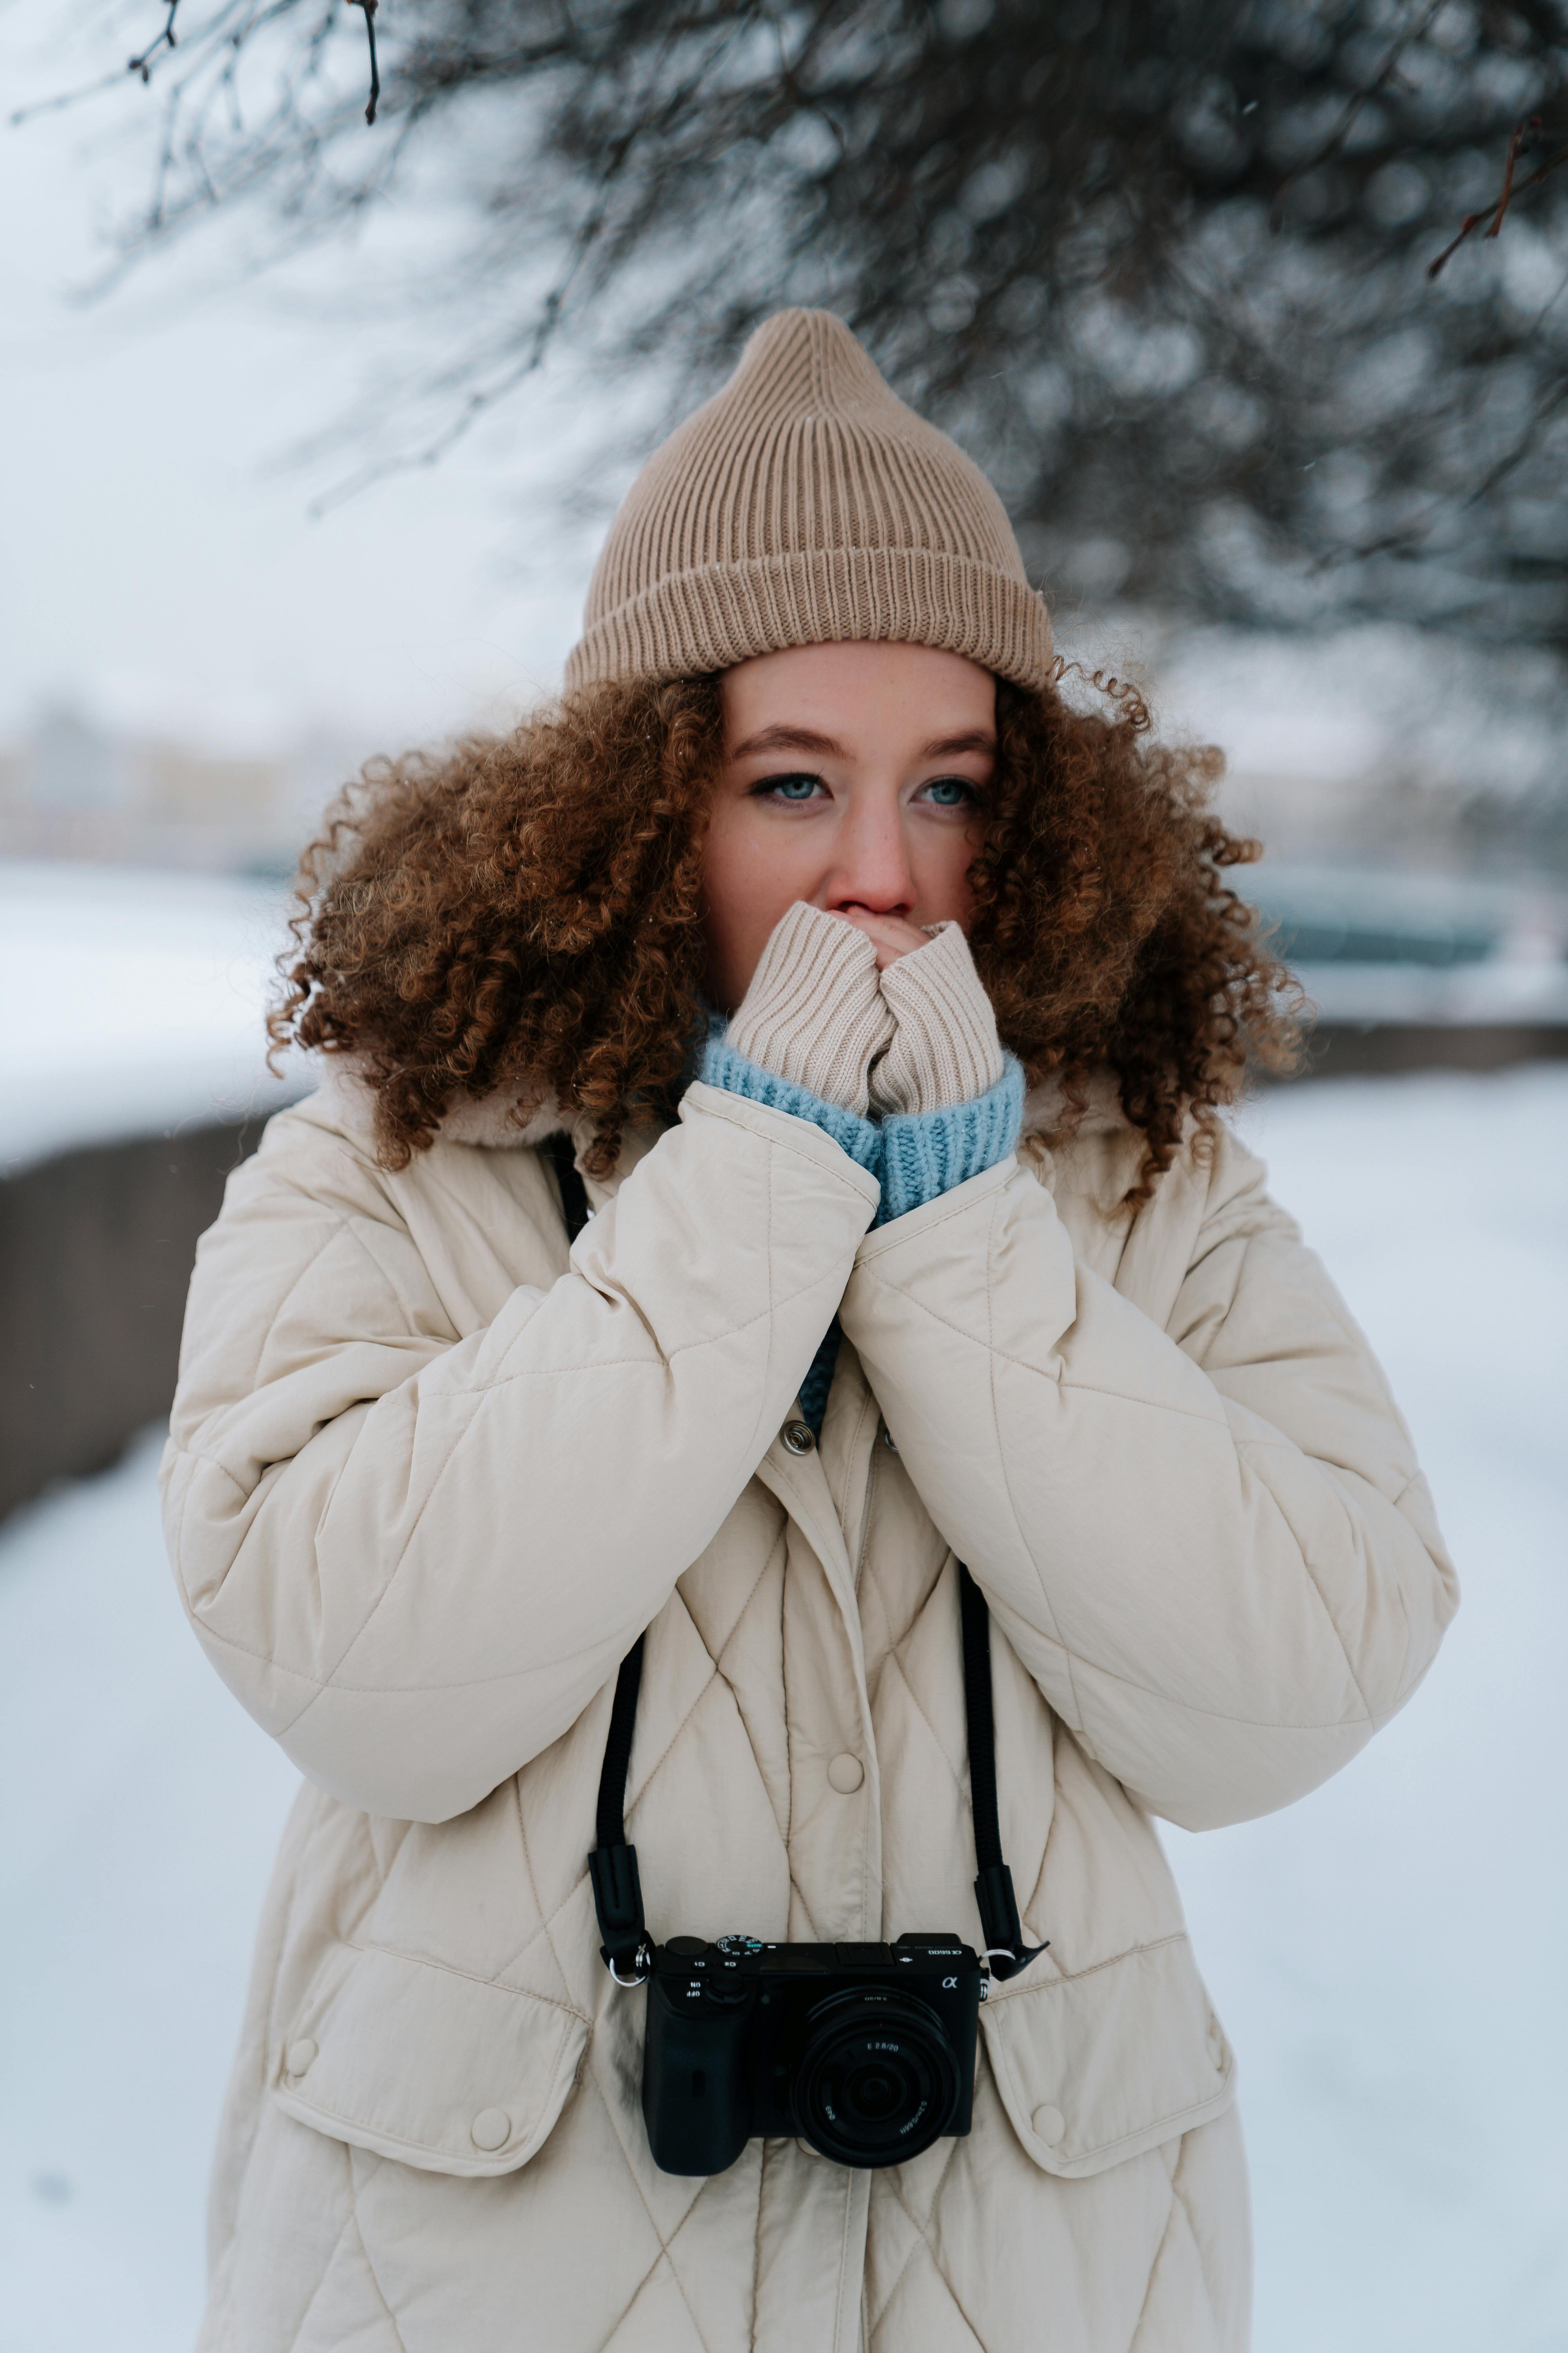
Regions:
M 896 400 L 830 311 L 778 311 L 632 482 L 567 689 L 726 671 L 835 638 L 1051 675 L 1051 621 L 1001 499 Z

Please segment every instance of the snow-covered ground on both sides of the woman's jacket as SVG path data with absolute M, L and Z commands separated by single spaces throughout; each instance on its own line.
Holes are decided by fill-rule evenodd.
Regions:
M 1241 2052 L 1258 2353 L 1561 2353 L 1568 1073 L 1321 1082 L 1248 1129 L 1389 1367 L 1467 1581 L 1349 1772 L 1168 1840 Z M 289 1802 L 181 1624 L 153 1466 L 148 1440 L 0 1534 L 0 2353 L 190 2341 Z

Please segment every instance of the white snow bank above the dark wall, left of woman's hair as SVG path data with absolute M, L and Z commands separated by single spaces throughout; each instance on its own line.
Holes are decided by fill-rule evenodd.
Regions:
M 0 1176 L 296 1094 L 261 1031 L 284 899 L 240 875 L 0 859 Z

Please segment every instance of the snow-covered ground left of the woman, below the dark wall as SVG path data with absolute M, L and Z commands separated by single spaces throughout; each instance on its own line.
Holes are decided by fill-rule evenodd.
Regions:
M 158 1438 L 0 1534 L 0 2353 L 183 2353 L 296 1774 L 186 1631 Z

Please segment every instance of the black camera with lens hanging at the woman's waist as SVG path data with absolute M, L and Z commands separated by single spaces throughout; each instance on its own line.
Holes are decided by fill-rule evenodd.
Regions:
M 835 2165 L 907 2165 L 969 2132 L 985 1969 L 957 1937 L 651 1948 L 642 2113 L 668 2174 L 722 2174 L 755 2137 Z

